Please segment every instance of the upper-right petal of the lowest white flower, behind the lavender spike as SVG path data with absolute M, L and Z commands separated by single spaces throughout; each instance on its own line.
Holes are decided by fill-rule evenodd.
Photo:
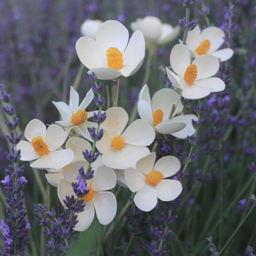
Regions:
M 106 191 L 116 186 L 116 174 L 108 166 L 100 166 L 92 179 L 93 191 Z

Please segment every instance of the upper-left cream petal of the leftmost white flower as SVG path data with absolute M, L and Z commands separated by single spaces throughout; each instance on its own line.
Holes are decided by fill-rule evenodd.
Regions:
M 31 120 L 25 129 L 24 137 L 31 143 L 38 136 L 44 139 L 46 127 L 43 122 L 38 119 Z

